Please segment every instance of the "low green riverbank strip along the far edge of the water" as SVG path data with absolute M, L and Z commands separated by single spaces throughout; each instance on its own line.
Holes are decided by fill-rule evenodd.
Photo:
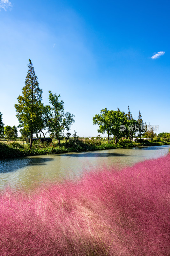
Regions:
M 170 144 L 170 142 L 165 141 L 148 141 L 144 140 L 143 142 L 127 142 L 121 141 L 117 144 L 114 143 L 103 143 L 101 145 L 85 143 L 77 143 L 73 147 L 65 146 L 51 146 L 46 148 L 15 148 L 7 145 L 5 143 L 0 143 L 0 159 L 4 158 L 13 158 L 21 156 L 40 156 L 40 155 L 54 155 L 67 152 L 83 152 L 83 151 L 96 151 L 104 149 L 114 149 L 114 148 L 130 148 L 130 147 L 146 147 L 146 146 L 162 146 Z

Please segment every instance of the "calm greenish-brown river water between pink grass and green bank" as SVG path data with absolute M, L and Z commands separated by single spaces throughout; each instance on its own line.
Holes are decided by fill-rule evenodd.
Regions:
M 74 179 L 83 170 L 106 165 L 120 169 L 145 159 L 167 154 L 170 145 L 138 148 L 117 148 L 92 152 L 66 153 L 58 155 L 28 156 L 0 160 L 0 189 L 33 188 L 43 181 Z

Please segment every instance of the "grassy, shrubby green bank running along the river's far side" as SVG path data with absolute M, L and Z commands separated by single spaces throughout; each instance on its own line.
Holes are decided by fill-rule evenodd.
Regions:
M 96 140 L 77 140 L 72 141 L 68 145 L 58 146 L 55 143 L 51 145 L 43 146 L 40 144 L 34 146 L 32 149 L 28 148 L 29 145 L 21 145 L 19 143 L 2 143 L 0 142 L 0 158 L 12 158 L 21 156 L 38 156 L 38 155 L 51 155 L 60 154 L 66 152 L 81 152 L 81 151 L 94 151 L 103 149 L 114 149 L 114 148 L 127 148 L 127 147 L 144 147 L 144 146 L 161 146 L 170 144 L 170 142 L 165 141 L 139 141 L 139 142 L 129 142 L 128 140 L 119 141 L 116 145 L 114 143 L 101 143 Z M 37 144 L 36 144 L 37 145 Z

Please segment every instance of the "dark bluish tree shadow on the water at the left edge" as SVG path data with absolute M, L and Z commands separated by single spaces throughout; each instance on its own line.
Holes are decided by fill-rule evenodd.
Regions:
M 26 166 L 45 165 L 49 161 L 53 161 L 53 158 L 45 157 L 23 157 L 0 160 L 0 173 L 14 172 L 18 169 L 25 168 Z

